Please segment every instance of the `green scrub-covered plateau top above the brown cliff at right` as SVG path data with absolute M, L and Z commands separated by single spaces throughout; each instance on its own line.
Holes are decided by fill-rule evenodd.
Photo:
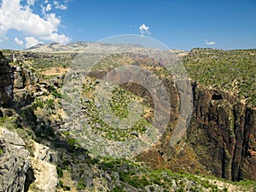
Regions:
M 256 49 L 192 49 L 183 63 L 200 84 L 229 91 L 256 107 Z

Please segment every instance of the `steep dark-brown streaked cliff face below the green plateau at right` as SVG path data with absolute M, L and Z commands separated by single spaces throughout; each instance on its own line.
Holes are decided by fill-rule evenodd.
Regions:
M 220 90 L 194 86 L 187 137 L 201 164 L 218 177 L 256 180 L 256 110 Z

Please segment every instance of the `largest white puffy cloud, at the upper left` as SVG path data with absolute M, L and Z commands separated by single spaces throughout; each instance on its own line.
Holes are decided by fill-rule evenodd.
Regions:
M 34 1 L 30 0 L 30 3 Z M 32 13 L 28 6 L 20 5 L 20 0 L 3 0 L 0 8 L 0 39 L 6 37 L 9 30 L 17 30 L 34 39 L 49 39 L 58 43 L 68 43 L 71 39 L 58 33 L 61 19 L 54 13 L 44 18 Z M 31 39 L 28 41 L 31 42 Z

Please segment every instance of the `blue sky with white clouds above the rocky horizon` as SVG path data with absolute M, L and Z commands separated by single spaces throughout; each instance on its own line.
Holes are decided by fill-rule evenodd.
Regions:
M 141 32 L 172 49 L 256 48 L 256 0 L 0 2 L 0 49 L 52 41 L 95 42 Z

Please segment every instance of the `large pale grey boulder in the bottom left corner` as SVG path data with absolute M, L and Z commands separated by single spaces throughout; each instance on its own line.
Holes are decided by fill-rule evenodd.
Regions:
M 0 191 L 24 191 L 29 184 L 30 166 L 23 140 L 15 132 L 0 127 Z

